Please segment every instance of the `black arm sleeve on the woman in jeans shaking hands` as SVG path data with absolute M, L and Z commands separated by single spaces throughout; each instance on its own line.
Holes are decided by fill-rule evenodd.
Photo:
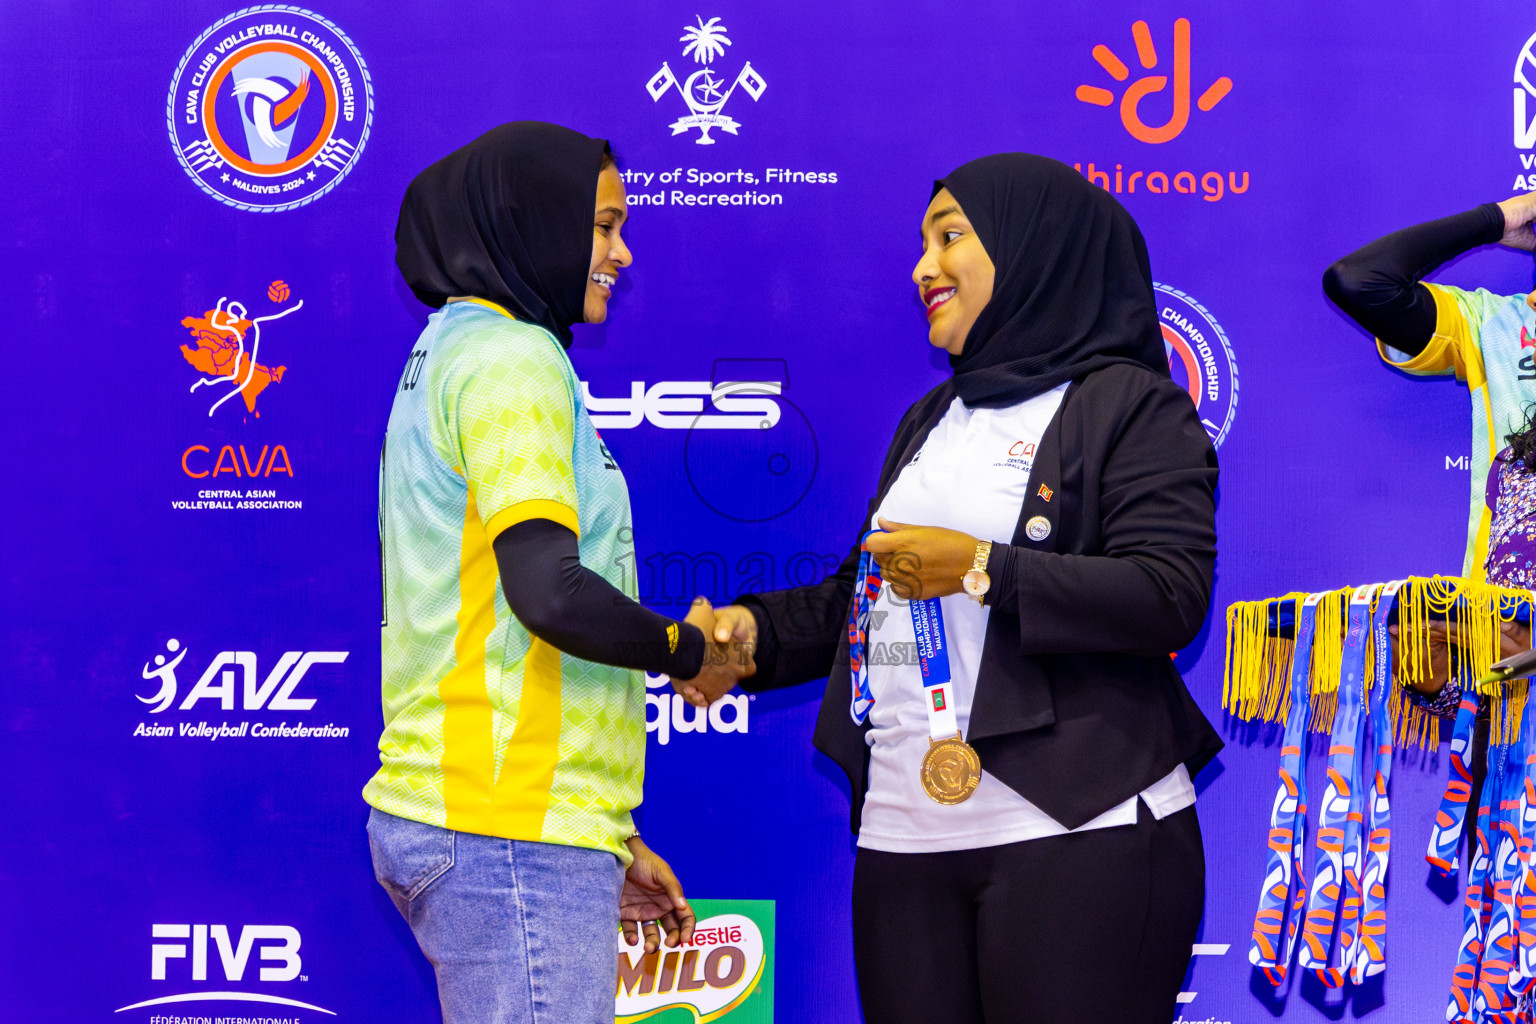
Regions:
M 699 674 L 705 640 L 697 626 L 644 608 L 584 567 L 568 528 L 528 519 L 502 530 L 492 550 L 511 614 L 545 643 L 602 665 Z M 677 626 L 676 642 L 670 626 Z

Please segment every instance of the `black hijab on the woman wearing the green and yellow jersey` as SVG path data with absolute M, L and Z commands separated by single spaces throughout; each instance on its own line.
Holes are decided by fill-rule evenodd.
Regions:
M 591 269 L 591 213 L 608 143 L 513 121 L 422 170 L 406 189 L 395 263 L 432 307 L 488 299 L 570 347 Z

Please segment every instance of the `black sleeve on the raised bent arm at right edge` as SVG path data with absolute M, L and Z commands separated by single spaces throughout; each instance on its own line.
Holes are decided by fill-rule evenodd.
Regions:
M 1447 259 L 1504 236 L 1498 203 L 1392 232 L 1338 259 L 1322 290 L 1382 342 L 1416 356 L 1435 336 L 1435 296 L 1419 281 Z

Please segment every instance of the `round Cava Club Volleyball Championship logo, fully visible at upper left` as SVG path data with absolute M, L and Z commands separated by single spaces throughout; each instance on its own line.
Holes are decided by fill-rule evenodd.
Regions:
M 369 138 L 373 88 L 352 40 L 303 8 L 230 14 L 181 57 L 166 121 L 177 160 L 220 203 L 276 213 L 336 187 Z

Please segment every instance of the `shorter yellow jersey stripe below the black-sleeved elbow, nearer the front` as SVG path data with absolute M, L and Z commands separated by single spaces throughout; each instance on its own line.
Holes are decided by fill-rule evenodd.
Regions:
M 518 725 L 501 758 L 496 824 L 516 838 L 544 838 L 561 751 L 561 652 L 533 637 L 522 660 Z

